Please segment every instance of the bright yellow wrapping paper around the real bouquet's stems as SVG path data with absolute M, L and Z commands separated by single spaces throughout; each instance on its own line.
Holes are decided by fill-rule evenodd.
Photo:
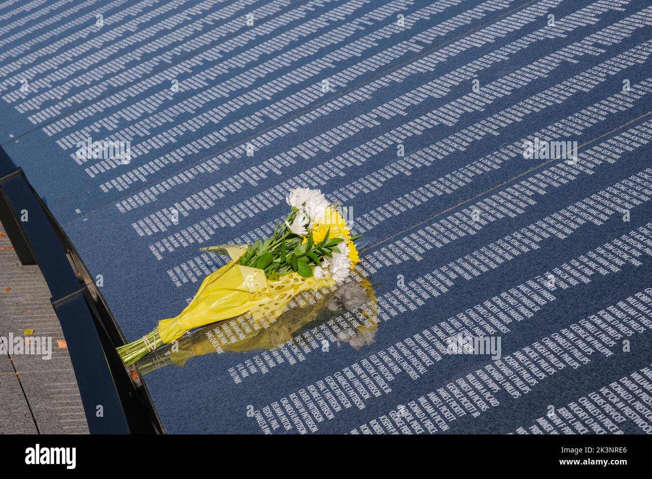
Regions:
M 171 343 L 192 329 L 247 312 L 255 321 L 277 317 L 298 293 L 334 284 L 332 279 L 304 278 L 298 273 L 268 280 L 263 270 L 238 264 L 247 246 L 224 244 L 202 250 L 228 255 L 231 261 L 203 280 L 181 314 L 158 322 L 163 343 Z

